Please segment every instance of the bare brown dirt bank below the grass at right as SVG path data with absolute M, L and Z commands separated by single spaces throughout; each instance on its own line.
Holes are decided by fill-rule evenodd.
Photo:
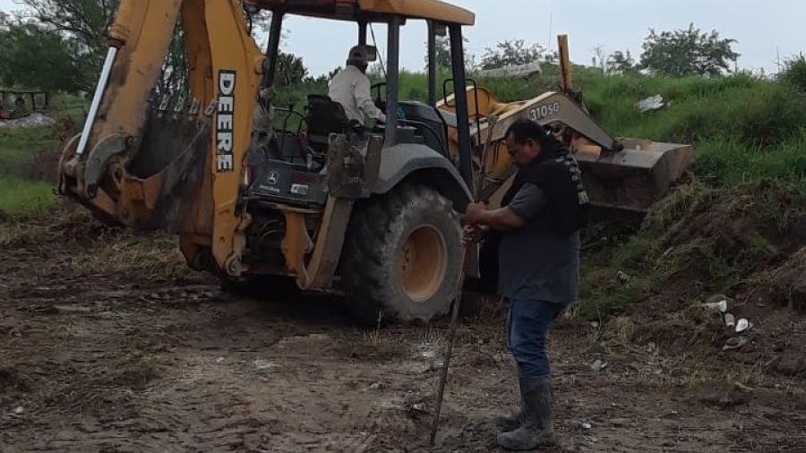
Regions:
M 791 309 L 806 306 L 804 223 L 806 195 L 785 184 L 689 184 L 658 203 L 616 252 L 619 269 L 608 269 L 600 295 L 629 301 L 621 319 L 640 344 L 720 363 L 725 372 L 750 365 L 759 376 L 802 376 L 806 316 Z M 737 333 L 704 307 L 716 294 L 750 329 Z

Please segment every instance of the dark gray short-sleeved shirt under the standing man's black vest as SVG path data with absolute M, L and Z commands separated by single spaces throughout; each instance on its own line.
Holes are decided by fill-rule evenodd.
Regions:
M 499 250 L 499 282 L 504 297 L 572 303 L 579 292 L 579 231 L 561 238 L 541 210 L 548 197 L 524 184 L 507 205 L 526 225 L 505 231 Z

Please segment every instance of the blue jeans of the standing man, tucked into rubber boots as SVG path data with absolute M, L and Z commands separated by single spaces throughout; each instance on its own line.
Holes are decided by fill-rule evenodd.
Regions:
M 545 338 L 555 319 L 568 304 L 510 299 L 507 315 L 507 346 L 510 347 L 518 371 L 526 378 L 542 378 L 551 374 L 545 351 Z

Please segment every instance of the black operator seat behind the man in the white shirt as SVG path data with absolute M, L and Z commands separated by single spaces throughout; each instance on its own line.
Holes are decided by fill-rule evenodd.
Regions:
M 344 112 L 344 107 L 338 102 L 321 94 L 309 94 L 306 110 L 306 123 L 308 124 L 307 139 L 317 152 L 326 152 L 330 143 L 331 133 L 348 134 L 356 127 L 357 121 L 350 121 Z

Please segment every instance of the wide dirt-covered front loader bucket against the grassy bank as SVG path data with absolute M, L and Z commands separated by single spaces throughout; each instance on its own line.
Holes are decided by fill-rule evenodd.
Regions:
M 694 160 L 690 145 L 638 139 L 623 144 L 617 152 L 582 147 L 575 155 L 595 208 L 646 213 Z

